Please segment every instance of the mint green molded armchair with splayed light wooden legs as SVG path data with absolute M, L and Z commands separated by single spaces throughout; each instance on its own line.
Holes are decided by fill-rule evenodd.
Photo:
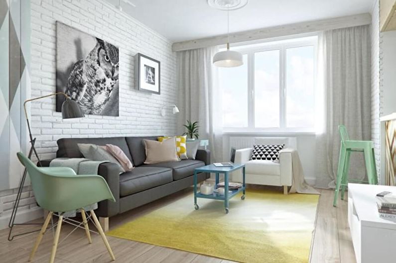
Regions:
M 30 254 L 29 261 L 33 259 L 41 239 L 47 230 L 52 215 L 56 215 L 54 213 L 58 213 L 59 220 L 56 226 L 50 263 L 53 263 L 55 260 L 64 212 L 74 210 L 81 211 L 83 218 L 82 224 L 84 224 L 88 241 L 91 243 L 90 230 L 83 207 L 106 199 L 112 200 L 113 202 L 116 201 L 105 179 L 99 175 L 76 175 L 73 169 L 67 167 L 40 168 L 34 165 L 24 154 L 17 153 L 17 156 L 22 165 L 26 167 L 30 176 L 34 196 L 38 205 L 49 211 Z M 106 239 L 95 212 L 91 210 L 90 213 L 90 217 L 93 218 L 95 226 L 112 260 L 115 260 L 112 249 L 110 248 L 109 242 Z

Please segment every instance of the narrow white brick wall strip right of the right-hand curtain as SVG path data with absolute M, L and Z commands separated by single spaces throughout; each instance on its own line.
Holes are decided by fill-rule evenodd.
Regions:
M 380 8 L 376 0 L 371 12 L 371 134 L 377 165 L 377 175 L 380 176 Z

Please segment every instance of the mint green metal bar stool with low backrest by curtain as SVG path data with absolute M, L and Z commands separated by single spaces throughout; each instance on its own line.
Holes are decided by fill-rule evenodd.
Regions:
M 344 125 L 339 125 L 338 130 L 340 132 L 340 137 L 341 137 L 341 149 L 340 149 L 340 159 L 338 161 L 337 182 L 336 182 L 336 190 L 334 192 L 333 206 L 337 206 L 340 186 L 341 186 L 341 200 L 344 200 L 345 188 L 348 185 L 349 160 L 352 152 L 364 153 L 368 182 L 369 184 L 378 184 L 373 142 L 350 140 L 347 129 L 345 128 Z

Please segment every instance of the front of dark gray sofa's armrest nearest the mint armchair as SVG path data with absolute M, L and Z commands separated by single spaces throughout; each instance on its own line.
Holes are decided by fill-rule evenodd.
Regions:
M 113 193 L 116 202 L 104 200 L 98 203 L 95 213 L 100 217 L 111 217 L 120 212 L 120 170 L 114 163 L 103 163 L 99 165 L 98 175 L 102 176 Z

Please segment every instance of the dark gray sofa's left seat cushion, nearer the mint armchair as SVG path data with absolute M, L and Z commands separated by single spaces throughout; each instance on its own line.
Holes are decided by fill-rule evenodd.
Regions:
M 135 167 L 120 175 L 120 196 L 127 196 L 172 181 L 172 170 L 160 167 Z

